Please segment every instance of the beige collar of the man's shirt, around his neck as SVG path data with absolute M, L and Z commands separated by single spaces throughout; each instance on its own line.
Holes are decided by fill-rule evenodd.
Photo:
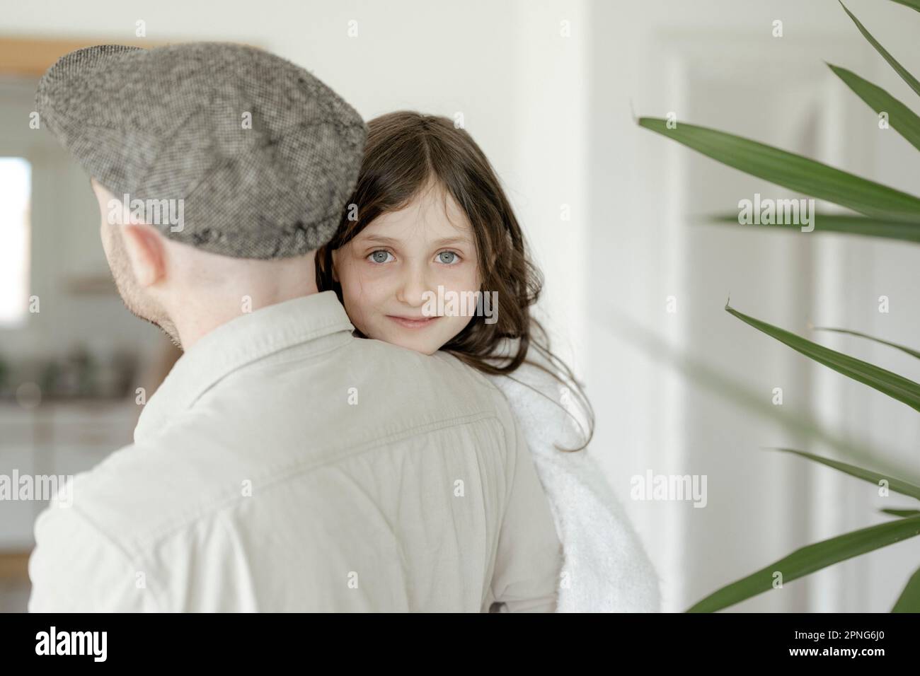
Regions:
M 234 317 L 205 334 L 173 365 L 144 405 L 134 441 L 162 430 L 230 372 L 282 349 L 354 327 L 333 291 L 313 293 Z

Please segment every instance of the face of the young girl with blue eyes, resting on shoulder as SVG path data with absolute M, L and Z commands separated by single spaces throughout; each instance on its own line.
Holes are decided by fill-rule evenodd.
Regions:
M 440 187 L 423 190 L 332 252 L 345 310 L 368 338 L 431 354 L 472 319 L 444 312 L 452 293 L 468 297 L 462 294 L 480 284 L 472 226 L 449 194 L 445 213 L 445 194 Z

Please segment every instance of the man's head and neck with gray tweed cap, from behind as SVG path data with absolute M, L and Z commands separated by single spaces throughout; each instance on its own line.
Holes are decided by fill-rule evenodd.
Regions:
M 354 188 L 366 126 L 313 74 L 230 43 L 99 45 L 64 55 L 36 99 L 93 178 L 132 313 L 178 341 L 206 290 L 237 308 L 241 283 L 261 304 L 285 300 L 282 281 L 315 291 L 313 252 Z

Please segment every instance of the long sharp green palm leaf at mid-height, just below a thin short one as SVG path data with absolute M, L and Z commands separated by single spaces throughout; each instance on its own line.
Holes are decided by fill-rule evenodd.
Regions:
M 745 324 L 764 332 L 767 336 L 776 338 L 776 340 L 801 352 L 809 359 L 824 364 L 824 366 L 834 369 L 838 373 L 843 373 L 845 376 L 853 378 L 862 384 L 874 387 L 879 392 L 920 411 L 920 384 L 916 384 L 914 381 L 908 380 L 897 373 L 892 373 L 870 364 L 868 361 L 858 360 L 835 349 L 825 348 L 782 328 L 774 327 L 759 319 L 744 315 L 730 307 L 729 304 L 725 304 L 725 309 L 730 314 L 741 319 Z

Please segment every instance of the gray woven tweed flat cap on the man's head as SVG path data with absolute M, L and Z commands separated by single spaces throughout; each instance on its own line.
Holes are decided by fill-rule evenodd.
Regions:
M 115 197 L 181 214 L 179 225 L 162 213 L 151 223 L 163 235 L 234 258 L 326 244 L 367 137 L 313 74 L 224 42 L 70 52 L 41 78 L 36 104 L 41 125 Z

